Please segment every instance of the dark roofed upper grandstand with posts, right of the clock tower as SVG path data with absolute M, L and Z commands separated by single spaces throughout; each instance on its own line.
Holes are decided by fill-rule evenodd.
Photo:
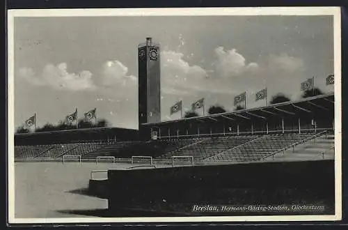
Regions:
M 262 135 L 333 130 L 333 93 L 176 121 L 144 124 L 148 138 L 175 139 L 214 135 Z M 153 139 L 153 137 L 152 137 Z

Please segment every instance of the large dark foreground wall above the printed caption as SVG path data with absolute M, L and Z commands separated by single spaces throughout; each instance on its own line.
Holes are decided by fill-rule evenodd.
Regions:
M 190 212 L 195 204 L 292 205 L 305 200 L 307 205 L 322 204 L 326 214 L 333 214 L 334 175 L 333 160 L 111 169 L 105 191 L 111 210 L 175 207 Z

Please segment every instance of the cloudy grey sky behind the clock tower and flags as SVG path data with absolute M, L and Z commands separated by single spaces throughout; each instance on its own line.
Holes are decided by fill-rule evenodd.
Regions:
M 235 95 L 267 87 L 269 99 L 301 97 L 300 84 L 333 91 L 331 16 L 16 17 L 15 126 L 36 113 L 37 125 L 97 108 L 113 126 L 138 127 L 139 43 L 161 45 L 161 119 L 184 110 L 233 109 Z M 201 111 L 198 111 L 201 113 Z

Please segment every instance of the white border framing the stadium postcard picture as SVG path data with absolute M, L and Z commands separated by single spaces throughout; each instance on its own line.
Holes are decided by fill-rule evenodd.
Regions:
M 14 17 L 112 17 L 198 15 L 333 15 L 335 75 L 335 215 L 262 215 L 202 217 L 86 217 L 15 218 L 14 167 Z M 341 19 L 339 7 L 268 8 L 123 8 L 123 9 L 26 9 L 8 10 L 8 222 L 10 224 L 101 222 L 278 222 L 333 221 L 342 218 L 342 102 Z

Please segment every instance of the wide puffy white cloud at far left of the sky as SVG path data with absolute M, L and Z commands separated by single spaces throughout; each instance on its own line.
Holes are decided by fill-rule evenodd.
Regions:
M 59 63 L 57 66 L 47 64 L 42 70 L 42 75 L 37 76 L 31 68 L 19 69 L 19 77 L 26 79 L 29 84 L 36 86 L 51 86 L 58 90 L 84 91 L 95 90 L 92 73 L 84 70 L 79 73 L 67 71 L 66 63 Z

